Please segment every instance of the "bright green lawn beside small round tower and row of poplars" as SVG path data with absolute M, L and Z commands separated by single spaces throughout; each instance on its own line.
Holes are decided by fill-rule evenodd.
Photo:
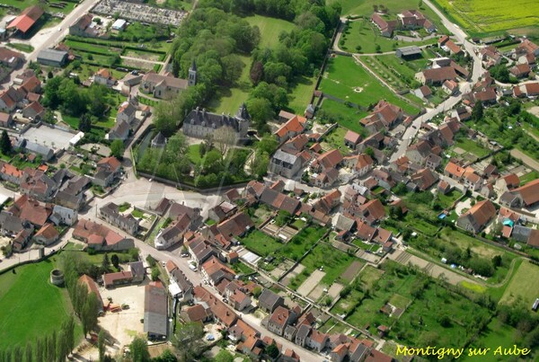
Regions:
M 49 283 L 52 260 L 29 264 L 0 276 L 0 349 L 32 343 L 58 331 L 62 322 L 73 313 L 67 290 Z M 82 337 L 75 329 L 75 340 Z

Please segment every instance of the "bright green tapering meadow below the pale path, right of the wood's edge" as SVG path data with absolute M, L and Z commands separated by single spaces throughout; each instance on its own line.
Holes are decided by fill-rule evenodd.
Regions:
M 409 114 L 417 114 L 419 109 L 397 97 L 389 88 L 358 64 L 352 57 L 335 57 L 329 62 L 319 89 L 343 101 L 354 102 L 362 107 L 386 100 Z

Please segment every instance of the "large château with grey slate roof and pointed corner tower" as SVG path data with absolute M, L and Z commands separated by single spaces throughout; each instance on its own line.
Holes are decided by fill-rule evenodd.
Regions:
M 228 127 L 234 130 L 237 140 L 247 137 L 247 130 L 251 124 L 251 116 L 247 107 L 242 104 L 234 116 L 210 113 L 206 109 L 197 107 L 191 110 L 183 121 L 181 127 L 183 134 L 189 137 L 205 138 L 218 128 Z

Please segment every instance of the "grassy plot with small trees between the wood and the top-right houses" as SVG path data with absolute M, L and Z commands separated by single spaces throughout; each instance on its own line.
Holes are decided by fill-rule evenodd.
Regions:
M 417 4 L 414 8 L 417 7 Z M 371 11 L 372 13 L 372 11 Z M 371 13 L 367 16 L 370 17 Z M 396 13 L 391 16 L 396 18 Z M 349 32 L 346 34 L 344 45 L 339 45 L 340 49 L 352 53 L 372 54 L 376 53 L 376 45 L 380 46 L 381 52 L 394 51 L 399 47 L 408 47 L 411 45 L 435 44 L 436 38 L 419 41 L 399 41 L 391 38 L 385 38 L 374 24 L 367 20 L 358 20 L 349 23 Z M 360 47 L 360 48 L 358 48 Z

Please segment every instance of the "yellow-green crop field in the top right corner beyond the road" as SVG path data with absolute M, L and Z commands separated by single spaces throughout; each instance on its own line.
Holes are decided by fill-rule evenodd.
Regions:
M 435 0 L 455 22 L 471 34 L 535 27 L 539 3 L 534 0 L 492 2 L 490 0 Z

